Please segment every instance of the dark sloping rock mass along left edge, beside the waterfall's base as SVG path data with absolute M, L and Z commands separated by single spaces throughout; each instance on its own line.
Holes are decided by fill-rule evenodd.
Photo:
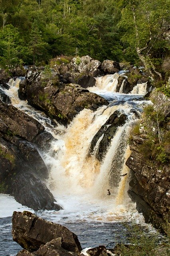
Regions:
M 51 135 L 34 118 L 0 101 L 0 184 L 1 192 L 34 210 L 60 210 L 47 189 L 48 170 L 38 153 Z

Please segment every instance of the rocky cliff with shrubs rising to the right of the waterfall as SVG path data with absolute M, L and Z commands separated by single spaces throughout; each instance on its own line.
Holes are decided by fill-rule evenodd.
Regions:
M 137 135 L 130 142 L 126 165 L 131 170 L 129 196 L 146 222 L 168 232 L 170 222 L 170 99 L 156 90 Z M 152 111 L 151 111 L 152 108 Z M 149 111 L 148 111 L 149 109 Z

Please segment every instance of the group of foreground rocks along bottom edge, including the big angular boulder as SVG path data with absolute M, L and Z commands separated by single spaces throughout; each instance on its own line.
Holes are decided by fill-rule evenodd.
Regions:
M 73 232 L 28 211 L 13 213 L 12 236 L 24 248 L 17 256 L 112 256 L 114 251 L 103 245 L 82 250 Z

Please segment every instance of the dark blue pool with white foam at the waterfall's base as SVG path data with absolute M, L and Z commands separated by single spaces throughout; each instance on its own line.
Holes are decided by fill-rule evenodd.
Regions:
M 6 202 L 6 207 L 0 209 L 0 256 L 16 256 L 22 250 L 21 246 L 12 240 L 12 221 L 11 215 L 13 211 L 23 212 L 30 210 L 17 203 L 12 196 L 0 194 L 0 201 L 2 206 Z M 99 204 L 90 204 L 83 202 L 77 197 L 70 198 L 63 197 L 59 200 L 65 210 L 56 211 L 39 211 L 35 212 L 39 217 L 61 224 L 74 232 L 81 243 L 82 248 L 93 248 L 99 245 L 104 245 L 106 248 L 114 248 L 118 243 L 129 243 L 128 238 L 134 236 L 137 228 L 140 228 L 144 234 L 156 234 L 159 240 L 164 237 L 160 235 L 150 225 L 145 224 L 141 214 L 138 214 L 131 208 L 130 212 L 123 212 L 122 214 L 119 206 L 119 215 L 116 212 L 106 212 L 107 209 Z M 111 201 L 106 200 L 105 206 Z M 78 206 L 78 210 L 76 210 Z M 129 205 L 130 206 L 130 205 Z M 134 205 L 135 206 L 135 205 Z M 112 208 L 112 205 L 111 205 Z M 118 209 L 117 209 L 118 210 Z M 10 215 L 10 217 L 9 217 Z M 117 219 L 116 219 L 117 218 Z M 131 219 L 130 219 L 131 218 Z

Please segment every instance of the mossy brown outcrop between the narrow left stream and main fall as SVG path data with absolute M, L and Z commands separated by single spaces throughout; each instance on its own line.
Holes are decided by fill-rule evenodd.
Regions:
M 62 124 L 68 124 L 83 108 L 95 110 L 107 100 L 77 84 L 61 84 L 57 78 L 43 80 L 40 72 L 29 71 L 18 95 Z

